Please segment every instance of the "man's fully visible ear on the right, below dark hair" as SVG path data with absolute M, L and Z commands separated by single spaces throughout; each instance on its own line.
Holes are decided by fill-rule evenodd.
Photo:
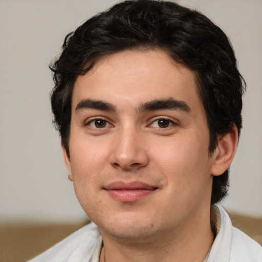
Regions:
M 228 169 L 235 156 L 237 143 L 238 133 L 234 124 L 229 133 L 219 138 L 213 155 L 214 162 L 211 168 L 213 176 L 220 176 Z

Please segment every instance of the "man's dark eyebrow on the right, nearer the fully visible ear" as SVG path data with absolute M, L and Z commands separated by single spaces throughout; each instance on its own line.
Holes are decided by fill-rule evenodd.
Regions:
M 156 99 L 152 101 L 148 101 L 142 103 L 139 107 L 139 111 L 156 111 L 156 110 L 182 110 L 184 112 L 189 113 L 191 111 L 190 107 L 187 105 L 186 102 L 180 101 L 174 98 L 167 98 L 167 99 Z

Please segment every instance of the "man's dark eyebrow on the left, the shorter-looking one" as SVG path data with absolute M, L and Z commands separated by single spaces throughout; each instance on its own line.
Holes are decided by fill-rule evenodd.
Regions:
M 102 100 L 82 99 L 77 104 L 75 111 L 80 111 L 83 109 L 95 109 L 95 110 L 110 111 L 116 113 L 116 108 L 113 104 Z

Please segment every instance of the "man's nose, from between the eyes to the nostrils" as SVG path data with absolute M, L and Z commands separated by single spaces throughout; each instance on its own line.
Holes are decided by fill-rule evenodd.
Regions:
M 145 139 L 135 128 L 116 133 L 110 156 L 114 168 L 137 170 L 145 167 L 148 161 Z

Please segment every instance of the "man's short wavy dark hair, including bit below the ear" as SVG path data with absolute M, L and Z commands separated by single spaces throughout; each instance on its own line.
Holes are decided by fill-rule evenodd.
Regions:
M 205 15 L 173 2 L 124 1 L 93 16 L 65 37 L 62 53 L 50 65 L 55 82 L 51 93 L 54 124 L 69 155 L 71 101 L 77 76 L 98 59 L 128 49 L 162 49 L 196 74 L 207 115 L 209 154 L 217 137 L 236 125 L 242 128 L 245 81 L 239 74 L 231 43 Z M 229 170 L 213 177 L 211 204 L 228 191 Z

